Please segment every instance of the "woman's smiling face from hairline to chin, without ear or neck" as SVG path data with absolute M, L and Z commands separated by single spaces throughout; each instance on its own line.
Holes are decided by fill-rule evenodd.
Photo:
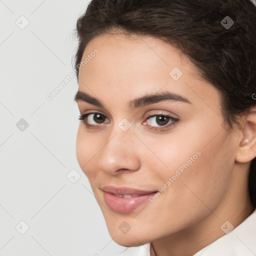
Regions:
M 217 90 L 153 37 L 102 34 L 82 60 L 88 55 L 79 71 L 76 101 L 86 116 L 76 155 L 114 241 L 137 246 L 211 214 L 225 196 L 237 142 L 223 128 Z

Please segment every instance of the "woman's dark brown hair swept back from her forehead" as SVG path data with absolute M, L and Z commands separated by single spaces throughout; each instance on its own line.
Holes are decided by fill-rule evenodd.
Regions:
M 227 19 L 233 21 L 230 27 L 224 26 Z M 87 43 L 117 30 L 157 37 L 188 56 L 198 74 L 220 92 L 228 129 L 256 104 L 256 7 L 250 0 L 91 0 L 76 23 L 77 81 Z M 256 158 L 248 189 L 256 207 Z

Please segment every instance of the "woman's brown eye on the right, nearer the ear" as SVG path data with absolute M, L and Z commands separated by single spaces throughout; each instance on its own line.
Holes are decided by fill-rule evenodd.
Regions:
M 144 121 L 142 124 L 152 126 L 150 129 L 161 130 L 166 129 L 172 125 L 175 125 L 177 122 L 178 119 L 170 115 L 154 114 L 146 117 L 146 121 Z

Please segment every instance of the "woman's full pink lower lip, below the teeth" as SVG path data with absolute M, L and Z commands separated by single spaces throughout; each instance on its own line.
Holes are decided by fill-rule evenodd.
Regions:
M 149 200 L 150 196 L 153 196 L 156 192 L 150 194 L 142 194 L 137 197 L 117 197 L 112 193 L 103 192 L 104 200 L 107 206 L 116 212 L 127 213 L 136 209 L 139 205 Z

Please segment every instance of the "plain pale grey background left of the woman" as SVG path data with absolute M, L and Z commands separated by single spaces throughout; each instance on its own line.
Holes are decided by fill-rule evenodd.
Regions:
M 0 0 L 1 256 L 113 256 L 125 249 L 108 234 L 76 159 L 76 78 L 46 98 L 73 71 L 72 30 L 87 4 Z

